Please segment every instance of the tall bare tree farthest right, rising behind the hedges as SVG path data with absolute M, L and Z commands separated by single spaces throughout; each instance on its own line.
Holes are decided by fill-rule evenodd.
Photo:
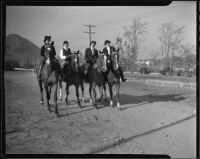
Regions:
M 181 35 L 184 31 L 184 26 L 174 25 L 174 22 L 167 22 L 161 25 L 159 28 L 161 35 L 159 40 L 161 43 L 161 53 L 164 54 L 167 58 L 167 67 L 173 65 L 173 57 L 175 51 L 180 48 L 182 41 Z M 170 60 L 171 54 L 171 60 Z

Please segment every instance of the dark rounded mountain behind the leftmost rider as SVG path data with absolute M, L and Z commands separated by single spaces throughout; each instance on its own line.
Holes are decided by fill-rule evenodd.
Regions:
M 6 36 L 5 49 L 5 61 L 15 60 L 20 66 L 37 64 L 40 58 L 40 48 L 17 34 L 9 34 Z

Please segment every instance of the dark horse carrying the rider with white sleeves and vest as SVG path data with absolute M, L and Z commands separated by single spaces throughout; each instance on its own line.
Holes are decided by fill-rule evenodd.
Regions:
M 81 108 L 81 103 L 79 99 L 79 86 L 81 86 L 82 93 L 84 92 L 83 88 L 83 75 L 81 74 L 80 66 L 79 66 L 79 50 L 77 52 L 72 53 L 71 55 L 71 63 L 66 65 L 63 68 L 64 77 L 62 77 L 62 81 L 66 83 L 66 97 L 65 103 L 69 105 L 68 95 L 69 95 L 69 87 L 71 85 L 75 86 L 76 89 L 76 96 L 78 106 Z M 60 88 L 60 99 L 62 99 L 62 84 L 59 82 Z M 82 94 L 83 95 L 83 94 Z M 84 96 L 84 95 L 83 95 Z

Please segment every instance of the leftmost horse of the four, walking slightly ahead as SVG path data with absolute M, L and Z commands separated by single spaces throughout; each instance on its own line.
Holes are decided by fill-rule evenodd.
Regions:
M 55 114 L 58 116 L 58 107 L 57 107 L 57 89 L 58 89 L 58 80 L 60 76 L 60 65 L 57 61 L 55 61 L 52 55 L 52 46 L 47 46 L 47 60 L 41 70 L 41 77 L 39 78 L 39 68 L 37 69 L 37 81 L 40 88 L 41 100 L 40 104 L 43 104 L 43 86 L 46 91 L 46 100 L 47 100 L 47 108 L 50 112 L 50 97 L 51 97 L 51 89 L 54 86 L 54 102 L 55 102 Z

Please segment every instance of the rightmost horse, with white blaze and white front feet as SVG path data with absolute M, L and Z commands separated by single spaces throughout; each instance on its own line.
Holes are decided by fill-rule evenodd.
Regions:
M 119 89 L 120 89 L 120 73 L 119 73 L 119 54 L 117 52 L 113 52 L 111 54 L 111 59 L 108 59 L 106 55 L 106 66 L 107 66 L 107 82 L 109 86 L 110 92 L 110 106 L 113 106 L 113 91 L 112 87 L 115 85 L 117 91 L 117 108 L 121 109 L 119 98 Z

